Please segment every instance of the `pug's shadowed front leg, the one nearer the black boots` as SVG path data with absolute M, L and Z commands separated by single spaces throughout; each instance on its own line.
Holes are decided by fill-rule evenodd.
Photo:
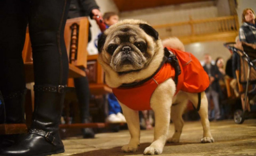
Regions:
M 129 144 L 122 147 L 124 152 L 136 152 L 140 144 L 140 121 L 139 112 L 134 111 L 126 105 L 118 101 L 122 107 L 123 115 L 128 125 L 129 132 L 131 134 L 131 139 Z

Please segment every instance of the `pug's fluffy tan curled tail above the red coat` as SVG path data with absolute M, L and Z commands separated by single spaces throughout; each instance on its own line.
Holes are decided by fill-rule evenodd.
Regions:
M 162 44 L 164 47 L 170 47 L 183 52 L 185 51 L 184 44 L 177 37 L 166 38 L 162 40 Z

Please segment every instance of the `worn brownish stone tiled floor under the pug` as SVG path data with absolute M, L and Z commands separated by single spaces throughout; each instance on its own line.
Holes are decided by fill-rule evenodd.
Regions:
M 214 143 L 201 144 L 203 128 L 200 121 L 186 122 L 180 143 L 166 144 L 162 156 L 242 156 L 256 155 L 256 119 L 238 125 L 233 120 L 211 122 Z M 170 125 L 173 133 L 173 124 Z M 123 153 L 121 147 L 129 142 L 129 131 L 99 133 L 94 139 L 69 138 L 63 140 L 65 153 L 54 156 L 142 156 L 153 141 L 153 130 L 141 131 L 141 146 L 135 153 Z

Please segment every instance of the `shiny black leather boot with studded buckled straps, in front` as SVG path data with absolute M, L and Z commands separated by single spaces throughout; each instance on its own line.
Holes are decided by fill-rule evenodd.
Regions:
M 59 123 L 65 97 L 64 86 L 34 86 L 35 105 L 28 134 L 0 156 L 46 156 L 64 152 Z

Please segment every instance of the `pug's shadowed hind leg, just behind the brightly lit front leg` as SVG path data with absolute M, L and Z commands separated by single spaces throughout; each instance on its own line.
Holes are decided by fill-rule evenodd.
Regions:
M 179 92 L 171 106 L 171 120 L 174 124 L 174 134 L 167 139 L 168 143 L 179 143 L 184 121 L 182 114 L 187 106 L 187 95 L 184 92 Z

